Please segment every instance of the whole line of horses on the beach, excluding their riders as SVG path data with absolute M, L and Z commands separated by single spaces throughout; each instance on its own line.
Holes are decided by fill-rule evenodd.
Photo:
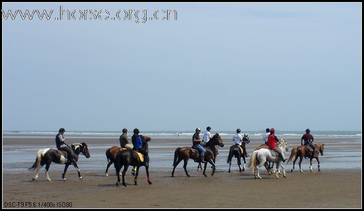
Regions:
M 151 141 L 151 138 L 148 136 L 143 136 L 143 135 L 140 135 L 140 136 L 142 139 L 142 148 L 148 152 L 148 142 Z M 250 140 L 249 140 L 248 135 L 244 134 L 243 143 L 249 143 L 249 142 L 250 142 Z M 207 177 L 207 175 L 206 175 L 207 163 L 211 164 L 211 168 L 212 168 L 211 176 L 213 176 L 215 173 L 215 170 L 216 170 L 215 160 L 216 160 L 216 155 L 217 155 L 216 148 L 215 148 L 216 146 L 221 146 L 221 147 L 224 146 L 224 142 L 218 133 L 216 133 L 204 146 L 206 152 L 204 155 L 205 165 L 204 165 L 203 175 L 205 177 Z M 315 143 L 315 146 L 317 147 L 317 150 L 320 152 L 321 156 L 323 156 L 324 144 Z M 287 140 L 281 139 L 279 141 L 277 147 L 283 152 L 283 155 L 284 155 L 285 152 L 288 152 Z M 29 170 L 31 170 L 31 171 L 36 170 L 32 180 L 37 180 L 40 168 L 43 165 L 46 165 L 46 167 L 45 167 L 46 178 L 48 181 L 51 181 L 51 179 L 48 176 L 48 170 L 49 170 L 49 166 L 50 166 L 51 162 L 58 163 L 58 164 L 65 164 L 64 172 L 62 174 L 63 180 L 66 180 L 65 174 L 66 174 L 66 171 L 67 171 L 67 168 L 69 165 L 73 165 L 76 168 L 79 179 L 82 180 L 80 168 L 77 165 L 77 161 L 78 161 L 78 157 L 80 154 L 84 155 L 86 158 L 90 157 L 90 154 L 89 154 L 88 148 L 87 148 L 87 144 L 84 142 L 83 143 L 74 143 L 71 145 L 71 149 L 74 152 L 73 156 L 74 156 L 75 162 L 70 162 L 67 159 L 66 153 L 63 151 L 54 150 L 54 149 L 50 149 L 50 148 L 39 150 L 37 152 L 37 158 L 35 159 L 34 164 L 29 168 Z M 196 149 L 194 149 L 193 147 L 189 147 L 189 146 L 178 147 L 175 150 L 174 159 L 173 159 L 172 177 L 174 177 L 175 168 L 182 160 L 184 161 L 183 168 L 188 177 L 190 177 L 190 175 L 188 174 L 186 167 L 187 167 L 187 163 L 188 163 L 189 159 L 193 159 L 193 160 L 195 160 L 195 162 L 199 162 L 199 166 L 201 166 L 201 160 L 199 160 L 199 155 L 197 154 L 196 151 L 197 151 Z M 241 147 L 239 147 L 238 145 L 232 145 L 230 147 L 229 155 L 227 158 L 227 163 L 229 163 L 228 172 L 230 173 L 231 160 L 233 157 L 238 159 L 239 171 L 240 172 L 245 171 L 245 164 L 246 164 L 245 154 Z M 318 171 L 320 171 L 320 162 L 319 162 L 318 155 L 314 157 L 313 154 L 307 150 L 306 146 L 300 145 L 300 146 L 293 147 L 292 152 L 291 152 L 289 158 L 287 159 L 287 163 L 289 163 L 290 161 L 293 160 L 293 168 L 292 168 L 291 172 L 293 172 L 295 170 L 295 163 L 298 158 L 300 158 L 300 161 L 299 161 L 300 172 L 301 173 L 303 172 L 301 169 L 301 163 L 302 163 L 303 157 L 310 158 L 310 171 L 311 172 L 312 172 L 312 159 L 316 158 L 316 160 L 318 162 Z M 137 185 L 137 178 L 138 178 L 140 166 L 145 166 L 148 183 L 152 184 L 150 177 L 149 177 L 149 165 L 143 165 L 143 160 L 142 160 L 142 158 L 140 158 L 138 156 L 137 152 L 130 150 L 130 149 L 124 149 L 119 146 L 113 146 L 106 151 L 106 158 L 107 158 L 108 164 L 106 167 L 105 174 L 106 174 L 106 176 L 108 176 L 108 174 L 107 174 L 108 168 L 111 166 L 111 164 L 114 163 L 116 175 L 118 177 L 116 186 L 119 186 L 119 184 L 120 184 L 120 176 L 122 176 L 122 185 L 126 186 L 124 178 L 125 178 L 125 173 L 126 173 L 126 171 L 128 171 L 129 166 L 134 166 L 132 174 L 135 175 L 135 178 L 134 178 L 135 185 Z M 244 160 L 243 168 L 241 167 L 241 158 L 243 158 L 243 160 Z M 149 163 L 149 156 L 144 157 L 144 159 L 146 159 L 146 162 Z M 273 165 L 270 165 L 268 162 L 276 163 L 275 171 L 272 171 Z M 286 177 L 285 169 L 284 169 L 284 166 L 281 164 L 280 157 L 274 151 L 269 150 L 268 146 L 265 144 L 262 144 L 259 147 L 257 147 L 257 149 L 251 154 L 251 158 L 248 163 L 248 166 L 254 173 L 254 178 L 262 179 L 259 174 L 259 168 L 263 165 L 265 166 L 269 175 L 271 175 L 272 173 L 276 173 L 277 179 L 279 178 L 278 175 L 281 174 L 281 172 L 279 170 L 279 167 L 281 167 L 282 171 L 283 171 L 283 177 Z M 123 167 L 123 171 L 120 173 L 122 167 Z M 197 170 L 198 170 L 198 168 L 197 168 Z

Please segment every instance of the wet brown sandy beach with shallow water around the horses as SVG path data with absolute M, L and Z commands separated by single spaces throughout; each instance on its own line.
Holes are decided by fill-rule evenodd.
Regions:
M 68 143 L 80 142 L 78 139 L 67 140 Z M 34 205 L 44 208 L 361 208 L 361 153 L 359 168 L 341 168 L 340 162 L 332 165 L 337 167 L 328 168 L 329 162 L 336 161 L 324 159 L 325 155 L 329 157 L 343 148 L 348 152 L 361 152 L 361 144 L 350 138 L 318 141 L 326 141 L 327 146 L 324 155 L 320 156 L 321 172 L 317 171 L 316 161 L 312 173 L 307 167 L 304 167 L 303 173 L 299 173 L 298 166 L 291 173 L 292 163 L 289 163 L 286 165 L 287 178 L 283 178 L 283 175 L 279 179 L 269 176 L 262 167 L 261 180 L 254 179 L 248 168 L 245 172 L 239 172 L 235 158 L 231 165 L 232 172 L 227 173 L 226 153 L 232 145 L 227 140 L 224 140 L 226 147 L 220 148 L 217 157 L 220 161 L 216 162 L 217 171 L 213 177 L 209 166 L 206 170 L 208 177 L 204 177 L 201 171 L 196 171 L 197 164 L 189 160 L 191 177 L 186 177 L 180 163 L 172 178 L 174 150 L 189 145 L 190 140 L 155 139 L 149 144 L 153 184 L 148 184 L 145 168 L 141 167 L 138 185 L 134 185 L 130 168 L 125 177 L 126 187 L 115 187 L 117 178 L 113 165 L 109 170 L 110 176 L 104 175 L 107 164 L 104 152 L 108 147 L 117 145 L 117 141 L 108 138 L 83 141 L 88 144 L 92 156 L 89 159 L 81 156 L 78 161 L 83 180 L 78 179 L 75 168 L 69 167 L 67 180 L 62 181 L 64 165 L 52 163 L 49 169 L 52 181 L 48 182 L 44 167 L 36 181 L 31 181 L 33 172 L 26 168 L 34 162 L 35 152 L 53 147 L 53 139 L 3 138 L 3 208 L 34 208 Z M 260 139 L 251 139 L 247 145 L 248 152 L 252 152 L 260 143 Z M 289 143 L 299 141 L 290 140 Z M 292 146 L 294 144 L 290 144 Z M 12 158 L 17 151 L 21 152 L 18 157 L 25 161 L 17 160 L 15 167 L 12 167 L 9 157 Z M 306 166 L 308 162 L 303 161 Z

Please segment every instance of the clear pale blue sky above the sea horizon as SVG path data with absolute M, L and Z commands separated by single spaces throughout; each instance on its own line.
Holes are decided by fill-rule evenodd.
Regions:
M 3 3 L 3 131 L 361 131 L 361 5 Z

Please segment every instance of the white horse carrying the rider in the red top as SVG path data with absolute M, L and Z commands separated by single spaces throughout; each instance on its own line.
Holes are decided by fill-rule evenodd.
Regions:
M 281 139 L 277 145 L 277 147 L 283 152 L 283 155 L 285 151 L 288 151 L 288 145 L 286 139 Z M 254 151 L 251 155 L 250 161 L 249 161 L 249 167 L 251 171 L 254 173 L 254 178 L 262 179 L 259 175 L 259 168 L 264 165 L 266 168 L 266 161 L 275 162 L 276 163 L 276 178 L 278 179 L 278 168 L 282 166 L 283 169 L 283 177 L 286 178 L 286 172 L 284 170 L 284 166 L 281 165 L 281 158 L 277 155 L 272 155 L 270 150 L 267 149 L 260 149 L 257 151 Z M 268 171 L 268 168 L 267 168 Z M 268 171 L 269 172 L 269 171 Z M 269 172 L 270 175 L 270 172 Z

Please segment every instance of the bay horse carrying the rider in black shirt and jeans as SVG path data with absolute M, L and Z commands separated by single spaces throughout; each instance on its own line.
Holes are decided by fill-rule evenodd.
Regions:
M 207 162 L 209 162 L 212 165 L 212 173 L 211 176 L 214 175 L 215 173 L 215 163 L 214 163 L 214 154 L 213 151 L 215 149 L 215 145 L 219 145 L 221 147 L 224 147 L 224 142 L 221 139 L 221 136 L 219 135 L 219 133 L 216 133 L 210 140 L 209 142 L 206 143 L 205 145 L 205 166 L 204 166 L 204 172 L 203 175 L 205 177 L 207 177 L 206 175 L 206 167 L 207 167 Z M 190 175 L 187 173 L 187 163 L 188 163 L 188 159 L 194 159 L 194 160 L 199 160 L 199 154 L 197 155 L 196 152 L 194 152 L 195 150 L 192 150 L 192 147 L 190 146 L 185 146 L 185 147 L 178 147 L 175 152 L 174 152 L 174 160 L 173 160 L 173 171 L 172 171 L 172 177 L 174 177 L 174 170 L 177 167 L 177 165 L 184 160 L 184 165 L 183 168 L 185 169 L 186 175 L 188 177 L 190 177 Z M 197 151 L 197 150 L 196 150 Z

